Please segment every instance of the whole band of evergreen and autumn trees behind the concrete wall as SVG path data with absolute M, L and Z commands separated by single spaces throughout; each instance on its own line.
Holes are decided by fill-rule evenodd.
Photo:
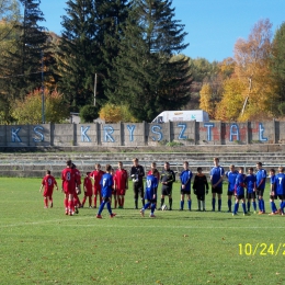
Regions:
M 43 123 L 43 99 L 54 123 L 70 112 L 89 122 L 192 109 L 219 121 L 285 116 L 285 24 L 273 34 L 260 20 L 232 58 L 209 62 L 183 54 L 174 11 L 171 0 L 70 0 L 58 36 L 39 0 L 0 0 L 0 124 Z

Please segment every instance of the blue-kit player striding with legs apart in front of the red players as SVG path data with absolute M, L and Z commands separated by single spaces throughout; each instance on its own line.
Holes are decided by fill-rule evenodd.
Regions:
M 99 207 L 99 212 L 96 214 L 96 218 L 102 219 L 101 213 L 104 209 L 104 206 L 107 206 L 107 210 L 110 214 L 110 217 L 113 218 L 116 216 L 115 213 L 112 213 L 111 208 L 111 200 L 112 200 L 112 186 L 113 186 L 113 176 L 111 174 L 112 167 L 110 164 L 106 164 L 105 173 L 102 175 L 100 185 L 101 185 L 101 193 L 102 193 L 102 203 Z

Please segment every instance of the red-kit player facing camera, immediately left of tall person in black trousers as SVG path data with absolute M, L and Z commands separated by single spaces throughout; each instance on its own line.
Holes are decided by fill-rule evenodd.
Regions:
M 125 169 L 123 169 L 123 162 L 117 163 L 117 170 L 115 172 L 115 189 L 117 194 L 118 208 L 124 208 L 125 194 L 128 189 L 128 174 Z

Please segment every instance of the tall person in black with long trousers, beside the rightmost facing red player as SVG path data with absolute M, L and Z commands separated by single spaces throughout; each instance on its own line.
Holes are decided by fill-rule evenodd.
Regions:
M 133 159 L 133 167 L 130 169 L 130 178 L 133 180 L 134 189 L 134 198 L 135 198 L 135 208 L 138 208 L 138 194 L 141 198 L 142 207 L 145 206 L 145 194 L 144 194 L 144 181 L 145 170 L 141 166 L 138 164 L 138 159 Z

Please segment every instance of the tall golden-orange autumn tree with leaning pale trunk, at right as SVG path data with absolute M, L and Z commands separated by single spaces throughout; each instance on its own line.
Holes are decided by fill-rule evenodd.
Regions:
M 252 29 L 248 41 L 238 39 L 235 45 L 235 72 L 248 87 L 243 92 L 243 109 L 240 119 L 264 119 L 273 116 L 276 100 L 274 80 L 270 70 L 272 57 L 272 24 L 260 20 Z

